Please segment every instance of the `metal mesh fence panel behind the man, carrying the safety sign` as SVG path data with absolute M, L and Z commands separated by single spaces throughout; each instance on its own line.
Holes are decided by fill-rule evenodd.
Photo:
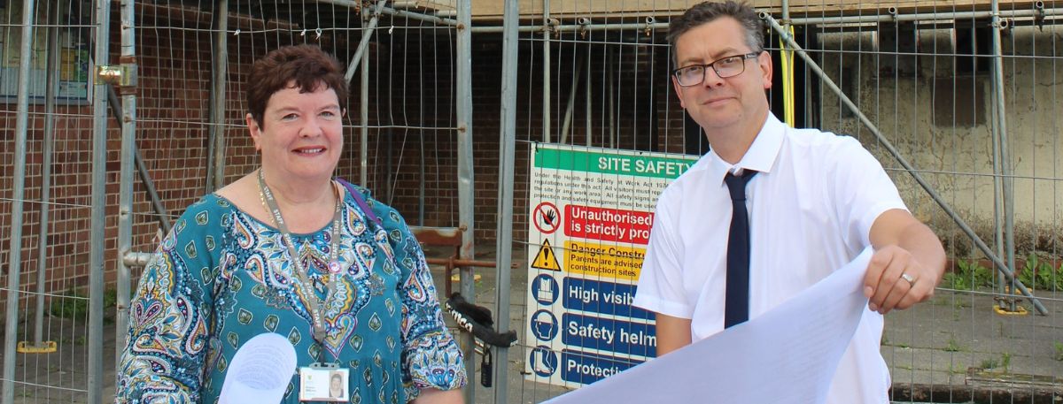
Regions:
M 589 259 L 581 244 L 586 234 L 573 243 L 572 234 L 556 235 L 561 231 L 543 230 L 535 223 L 543 209 L 552 210 L 540 204 L 557 198 L 568 204 L 557 204 L 560 227 L 571 230 L 568 209 L 587 197 L 583 188 L 591 187 L 581 181 L 594 180 L 601 190 L 601 183 L 622 176 L 568 174 L 559 187 L 564 191 L 543 196 L 543 188 L 557 188 L 556 166 L 520 159 L 541 159 L 546 155 L 534 151 L 544 147 L 594 156 L 705 153 L 704 137 L 685 116 L 668 76 L 675 68 L 665 39 L 668 22 L 693 3 L 521 4 L 522 63 L 516 73 L 526 91 L 520 99 L 526 118 L 518 120 L 516 166 L 518 177 L 527 170 L 530 200 L 522 200 L 518 192 L 513 248 L 524 258 L 517 261 L 529 269 L 514 271 L 514 280 L 526 275 L 520 281 L 527 282 L 512 288 L 514 304 L 525 304 L 514 311 L 522 315 L 514 327 L 525 331 L 525 350 L 510 359 L 524 362 L 522 402 L 542 401 L 586 384 L 564 373 L 573 364 L 577 370 L 592 368 L 584 367 L 586 361 L 566 361 L 576 357 L 573 351 L 615 370 L 653 356 L 631 355 L 608 344 L 591 347 L 580 334 L 588 322 L 580 316 L 588 314 L 618 333 L 623 323 L 652 321 L 635 314 L 609 315 L 602 306 L 587 308 L 564 296 L 553 303 L 539 299 L 551 296 L 544 291 L 553 287 L 540 287 L 541 277 L 556 278 L 559 293 L 575 294 L 570 300 L 585 303 L 597 297 L 566 283 L 575 278 L 634 284 L 583 270 L 578 262 Z M 1054 279 L 1063 275 L 1054 230 L 1060 219 L 1054 113 L 1060 94 L 1059 4 L 994 3 L 753 3 L 779 25 L 773 29 L 765 20 L 765 46 L 775 68 L 769 91 L 773 112 L 780 119 L 792 115 L 789 122 L 796 127 L 857 138 L 887 169 L 911 212 L 946 246 L 949 262 L 937 296 L 885 317 L 881 352 L 896 402 L 1017 403 L 1047 400 L 1058 391 L 1060 344 L 1052 330 L 1060 311 Z M 793 50 L 782 40 L 783 30 L 792 30 L 792 39 L 808 59 L 783 52 Z M 999 50 L 994 49 L 994 32 L 1000 34 Z M 998 60 L 999 68 L 994 65 Z M 784 80 L 792 82 L 789 88 Z M 606 196 L 600 195 L 597 204 L 610 208 L 637 205 L 641 198 L 638 193 L 601 194 Z M 598 246 L 617 247 L 612 264 L 624 259 L 624 247 L 644 248 L 637 242 L 590 239 Z M 543 265 L 543 241 L 559 257 L 563 274 L 554 273 L 549 262 Z M 1003 275 L 1012 269 L 1016 281 Z M 534 296 L 525 297 L 529 294 Z M 552 311 L 554 318 L 544 317 L 542 310 Z M 559 330 L 543 331 L 543 318 Z M 543 347 L 552 356 L 537 351 Z M 612 362 L 602 362 L 601 355 Z M 545 356 L 552 359 L 542 359 Z

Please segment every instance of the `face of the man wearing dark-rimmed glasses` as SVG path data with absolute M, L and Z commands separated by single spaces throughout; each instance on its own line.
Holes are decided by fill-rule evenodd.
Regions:
M 701 24 L 676 39 L 676 67 L 705 65 L 755 52 L 745 37 L 745 30 L 731 17 Z M 721 78 L 712 68 L 705 69 L 705 81 L 689 87 L 680 86 L 672 76 L 679 104 L 706 130 L 747 127 L 767 112 L 764 90 L 772 87 L 772 58 L 761 52 L 743 64 L 744 72 L 726 78 Z

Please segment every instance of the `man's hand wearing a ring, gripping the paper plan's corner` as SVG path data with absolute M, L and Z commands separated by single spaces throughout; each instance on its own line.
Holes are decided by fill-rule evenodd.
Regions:
M 867 306 L 881 314 L 930 299 L 937 285 L 938 271 L 896 245 L 876 250 L 864 275 L 864 296 L 870 299 Z

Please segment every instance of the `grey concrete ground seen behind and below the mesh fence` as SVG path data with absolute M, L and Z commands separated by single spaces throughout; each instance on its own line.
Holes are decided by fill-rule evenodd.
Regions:
M 442 250 L 427 250 L 443 256 Z M 524 251 L 513 252 L 523 267 Z M 493 260 L 490 252 L 477 256 Z M 477 270 L 476 302 L 494 308 L 494 270 Z M 441 268 L 433 276 L 442 291 Z M 456 283 L 455 283 L 456 287 Z M 509 284 L 509 329 L 524 340 L 527 274 L 514 269 Z M 442 292 L 440 292 L 442 294 Z M 994 312 L 988 293 L 939 291 L 928 302 L 887 316 L 882 356 L 894 381 L 894 402 L 942 403 L 1063 403 L 1063 292 L 1037 292 L 1047 316 L 1000 315 Z M 1032 305 L 1022 301 L 1031 310 Z M 21 330 L 26 330 L 23 323 Z M 60 350 L 48 354 L 19 354 L 15 377 L 16 403 L 88 402 L 87 330 L 79 321 L 48 318 L 46 330 Z M 115 327 L 104 327 L 104 402 L 114 399 Z M 24 331 L 20 331 L 21 339 Z M 479 385 L 479 374 L 470 377 L 475 403 L 539 403 L 569 391 L 567 388 L 529 382 L 522 374 L 524 349 L 509 350 L 507 393 L 496 401 L 495 388 Z M 478 363 L 479 357 L 475 361 Z M 495 356 L 494 366 L 503 361 Z M 495 383 L 497 387 L 497 383 Z

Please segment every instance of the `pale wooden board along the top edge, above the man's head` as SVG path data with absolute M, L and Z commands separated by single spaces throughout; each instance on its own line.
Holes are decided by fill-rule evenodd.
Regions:
M 592 19 L 619 17 L 661 17 L 681 14 L 701 0 L 550 0 L 551 18 L 568 19 L 589 17 Z M 1000 10 L 1030 10 L 1034 1 L 1000 0 Z M 749 4 L 775 16 L 782 14 L 781 0 L 750 0 Z M 790 15 L 793 18 L 824 17 L 838 15 L 885 14 L 896 7 L 900 14 L 950 13 L 990 10 L 990 0 L 924 0 L 924 1 L 825 1 L 792 0 Z M 520 0 L 521 19 L 541 19 L 543 0 Z M 477 21 L 501 21 L 505 13 L 504 0 L 472 0 L 473 19 Z M 603 21 L 604 22 L 604 21 Z

